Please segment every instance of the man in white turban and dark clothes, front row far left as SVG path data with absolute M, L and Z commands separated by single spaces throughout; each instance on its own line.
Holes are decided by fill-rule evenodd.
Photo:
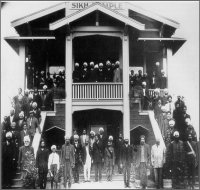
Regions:
M 2 143 L 2 188 L 10 189 L 13 176 L 13 161 L 15 161 L 15 148 L 12 143 L 12 133 L 6 133 L 6 140 Z

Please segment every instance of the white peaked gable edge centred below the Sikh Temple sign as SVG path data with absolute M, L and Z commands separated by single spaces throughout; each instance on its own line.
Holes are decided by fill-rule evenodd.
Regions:
M 83 10 L 80 10 L 80 11 L 77 11 L 63 19 L 60 19 L 54 23 L 50 23 L 49 25 L 49 29 L 50 30 L 56 30 L 64 25 L 68 25 L 70 24 L 71 22 L 85 16 L 85 15 L 88 15 L 89 13 L 92 13 L 94 11 L 100 11 L 100 12 L 103 12 L 115 19 L 118 19 L 120 20 L 121 22 L 124 22 L 125 24 L 127 25 L 130 25 L 138 30 L 144 30 L 145 29 L 145 25 L 130 18 L 130 17 L 127 17 L 117 11 L 114 11 L 114 10 L 111 10 L 109 8 L 107 8 L 106 6 L 100 4 L 99 2 L 96 2 L 96 3 L 93 3 L 91 4 L 90 6 L 88 6 L 87 8 L 83 9 Z

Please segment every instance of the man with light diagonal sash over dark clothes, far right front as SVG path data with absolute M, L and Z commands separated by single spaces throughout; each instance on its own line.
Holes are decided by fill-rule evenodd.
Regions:
M 195 185 L 195 168 L 197 165 L 197 144 L 192 140 L 192 134 L 188 134 L 188 140 L 184 142 L 184 149 L 186 153 L 186 167 L 188 174 L 188 185 L 190 189 L 194 189 Z

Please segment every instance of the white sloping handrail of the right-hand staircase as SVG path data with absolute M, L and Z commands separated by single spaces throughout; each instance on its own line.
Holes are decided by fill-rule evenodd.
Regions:
M 147 111 L 147 112 L 148 112 L 148 115 L 149 115 L 149 120 L 151 122 L 151 126 L 152 126 L 152 129 L 153 129 L 155 138 L 159 138 L 160 144 L 163 145 L 166 148 L 162 134 L 161 134 L 161 131 L 160 131 L 160 127 L 158 126 L 158 123 L 155 120 L 154 112 L 153 111 Z

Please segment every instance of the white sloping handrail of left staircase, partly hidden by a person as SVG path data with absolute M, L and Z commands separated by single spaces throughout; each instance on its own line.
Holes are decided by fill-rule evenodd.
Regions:
M 43 132 L 43 130 L 44 130 L 44 124 L 45 124 L 46 116 L 47 116 L 47 112 L 42 111 L 41 112 L 41 122 L 40 122 L 41 132 Z M 35 158 L 36 158 L 36 154 L 37 154 L 37 151 L 38 151 L 38 148 L 39 148 L 39 145 L 40 145 L 40 140 L 41 140 L 41 134 L 38 131 L 36 131 L 35 136 L 33 138 L 33 143 L 32 143 Z

